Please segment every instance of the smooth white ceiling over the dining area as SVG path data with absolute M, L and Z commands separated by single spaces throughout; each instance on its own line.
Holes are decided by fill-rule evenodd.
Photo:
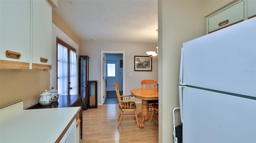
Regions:
M 157 45 L 157 0 L 58 0 L 53 10 L 82 42 Z

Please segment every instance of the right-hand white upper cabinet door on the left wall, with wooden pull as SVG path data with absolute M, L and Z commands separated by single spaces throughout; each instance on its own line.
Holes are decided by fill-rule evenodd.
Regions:
M 32 69 L 52 69 L 52 8 L 45 0 L 32 3 Z

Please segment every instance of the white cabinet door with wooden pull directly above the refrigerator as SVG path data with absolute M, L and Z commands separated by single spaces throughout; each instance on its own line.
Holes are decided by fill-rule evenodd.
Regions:
M 244 21 L 244 2 L 238 2 L 229 8 L 208 18 L 208 33 Z

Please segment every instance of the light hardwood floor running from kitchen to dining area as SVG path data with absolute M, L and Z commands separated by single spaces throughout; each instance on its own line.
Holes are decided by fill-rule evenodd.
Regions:
M 136 106 L 138 114 L 141 104 Z M 96 109 L 84 110 L 83 139 L 80 139 L 80 143 L 158 143 L 156 123 L 146 120 L 144 128 L 139 129 L 135 122 L 121 122 L 118 129 L 119 113 L 118 104 L 104 104 Z M 141 122 L 141 118 L 138 120 Z

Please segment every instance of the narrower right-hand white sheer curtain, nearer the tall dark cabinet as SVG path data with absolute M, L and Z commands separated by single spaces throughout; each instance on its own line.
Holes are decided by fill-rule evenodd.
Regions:
M 70 50 L 70 95 L 77 94 L 77 65 L 76 65 L 76 52 Z

